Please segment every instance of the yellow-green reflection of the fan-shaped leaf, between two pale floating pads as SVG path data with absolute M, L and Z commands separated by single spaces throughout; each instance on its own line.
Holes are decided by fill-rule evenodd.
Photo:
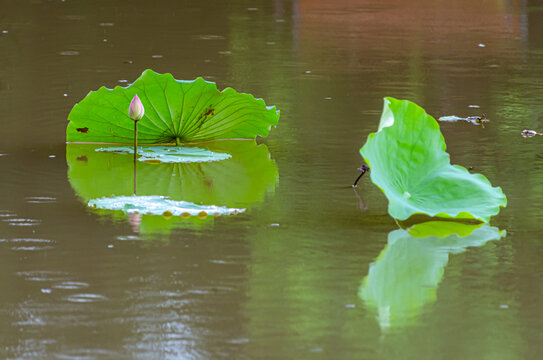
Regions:
M 189 164 L 137 163 L 137 195 L 161 195 L 195 204 L 247 208 L 275 190 L 277 167 L 265 145 L 255 141 L 216 141 L 201 144 L 232 157 Z M 66 145 L 68 179 L 87 203 L 92 199 L 134 193 L 133 157 L 97 152 L 100 146 Z

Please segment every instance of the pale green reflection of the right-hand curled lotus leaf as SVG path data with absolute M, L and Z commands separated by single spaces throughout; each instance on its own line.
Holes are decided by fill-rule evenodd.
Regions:
M 487 224 L 455 227 L 450 222 L 430 222 L 392 231 L 387 246 L 370 265 L 359 296 L 377 313 L 382 329 L 414 324 L 424 306 L 436 300 L 449 254 L 502 236 L 505 231 Z

